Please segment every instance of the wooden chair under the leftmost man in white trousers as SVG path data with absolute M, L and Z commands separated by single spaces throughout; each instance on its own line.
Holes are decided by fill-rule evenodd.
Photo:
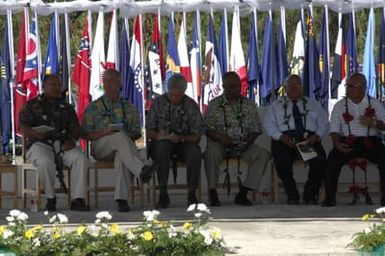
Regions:
M 22 140 L 22 155 L 23 155 L 23 162 L 21 164 L 21 183 L 22 183 L 22 189 L 21 189 L 21 196 L 23 199 L 23 207 L 27 207 L 27 197 L 28 195 L 36 197 L 38 208 L 40 207 L 41 203 L 41 195 L 44 194 L 44 191 L 41 189 L 40 179 L 39 179 L 39 172 L 37 167 L 32 165 L 31 163 L 27 162 L 26 159 L 26 139 L 23 137 Z M 68 182 L 67 182 L 67 200 L 68 205 L 71 202 L 71 170 L 68 166 L 64 166 L 63 172 L 67 171 L 68 175 Z M 28 173 L 32 172 L 35 175 L 35 186 L 34 188 L 28 187 Z M 65 191 L 61 188 L 55 189 L 56 193 L 65 193 Z

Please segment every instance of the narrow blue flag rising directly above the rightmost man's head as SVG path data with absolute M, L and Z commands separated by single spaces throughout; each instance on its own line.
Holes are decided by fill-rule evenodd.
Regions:
M 354 14 L 349 13 L 349 27 L 346 33 L 346 79 L 358 70 L 356 32 L 354 27 Z

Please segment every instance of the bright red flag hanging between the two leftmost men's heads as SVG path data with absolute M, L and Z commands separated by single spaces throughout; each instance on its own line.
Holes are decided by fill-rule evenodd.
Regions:
M 90 102 L 90 45 L 88 37 L 88 20 L 84 23 L 80 47 L 75 59 L 75 66 L 72 72 L 72 81 L 78 85 L 78 108 L 79 121 L 83 121 L 84 110 Z

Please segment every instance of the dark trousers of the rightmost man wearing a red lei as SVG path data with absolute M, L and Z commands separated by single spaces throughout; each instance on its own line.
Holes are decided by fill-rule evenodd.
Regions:
M 373 144 L 371 147 L 367 147 L 363 143 L 364 138 L 356 138 L 355 143 L 352 145 L 354 150 L 349 154 L 342 154 L 335 148 L 329 153 L 325 176 L 326 196 L 328 199 L 335 200 L 336 198 L 338 178 L 344 164 L 350 159 L 357 157 L 365 158 L 377 165 L 380 171 L 382 196 L 385 195 L 385 147 L 377 137 L 370 137 L 370 140 Z

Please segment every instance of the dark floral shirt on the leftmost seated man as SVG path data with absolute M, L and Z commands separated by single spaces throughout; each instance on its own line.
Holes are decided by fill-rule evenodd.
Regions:
M 28 101 L 20 110 L 19 125 L 35 127 L 46 125 L 54 127 L 50 132 L 51 138 L 77 140 L 80 134 L 80 125 L 76 112 L 70 104 L 58 99 L 49 102 L 44 94 Z M 28 140 L 29 148 L 36 140 Z

